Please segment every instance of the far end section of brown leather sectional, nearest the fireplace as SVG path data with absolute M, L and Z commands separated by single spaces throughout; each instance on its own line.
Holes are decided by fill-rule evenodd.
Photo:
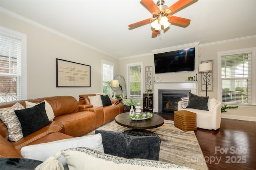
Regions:
M 95 96 L 96 94 L 79 95 L 79 109 L 80 111 L 92 111 L 96 115 L 96 125 L 98 128 L 115 119 L 116 115 L 123 113 L 123 105 L 118 99 L 111 99 L 112 105 L 104 107 L 93 107 L 88 96 Z

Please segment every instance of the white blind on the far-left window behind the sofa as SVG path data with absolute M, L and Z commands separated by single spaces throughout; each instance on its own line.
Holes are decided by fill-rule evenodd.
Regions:
M 21 99 L 20 39 L 0 35 L 0 102 Z

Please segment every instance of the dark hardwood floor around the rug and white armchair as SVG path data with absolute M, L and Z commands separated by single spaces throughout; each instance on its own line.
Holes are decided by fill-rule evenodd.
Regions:
M 173 113 L 156 113 L 174 120 Z M 194 130 L 209 170 L 256 169 L 256 122 L 221 119 L 218 130 Z

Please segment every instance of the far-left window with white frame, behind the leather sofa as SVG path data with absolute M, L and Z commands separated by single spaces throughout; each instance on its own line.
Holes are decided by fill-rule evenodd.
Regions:
M 0 102 L 26 99 L 26 35 L 0 30 Z

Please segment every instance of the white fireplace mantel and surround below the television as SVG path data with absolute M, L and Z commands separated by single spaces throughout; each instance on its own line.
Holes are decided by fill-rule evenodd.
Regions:
M 158 90 L 191 90 L 191 93 L 198 95 L 196 83 L 198 81 L 172 81 L 154 82 L 154 112 L 158 112 Z

